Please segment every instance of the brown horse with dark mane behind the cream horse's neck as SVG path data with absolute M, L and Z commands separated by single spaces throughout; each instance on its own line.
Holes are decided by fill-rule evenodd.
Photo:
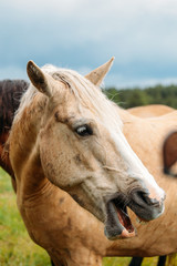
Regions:
M 0 81 L 0 166 L 9 173 L 12 186 L 15 192 L 15 178 L 11 168 L 8 153 L 3 151 L 4 143 L 8 140 L 9 131 L 12 125 L 13 116 L 19 108 L 20 99 L 28 89 L 29 83 L 24 80 L 4 80 Z M 164 266 L 166 256 L 160 256 L 158 266 Z M 134 257 L 129 266 L 140 266 L 142 257 Z M 52 263 L 52 265 L 54 265 Z

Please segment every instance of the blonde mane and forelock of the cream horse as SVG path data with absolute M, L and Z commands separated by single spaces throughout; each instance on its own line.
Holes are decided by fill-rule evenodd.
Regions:
M 53 65 L 44 65 L 44 73 L 51 75 L 54 80 L 62 81 L 75 95 L 81 105 L 88 108 L 106 126 L 114 127 L 117 131 L 122 129 L 122 121 L 117 113 L 117 106 L 111 102 L 102 90 L 91 83 L 87 79 L 77 72 L 69 69 L 59 69 Z M 52 93 L 54 93 L 52 91 Z M 29 106 L 35 95 L 42 95 L 32 84 L 24 92 L 19 110 L 17 111 L 14 122 L 21 116 L 23 110 Z

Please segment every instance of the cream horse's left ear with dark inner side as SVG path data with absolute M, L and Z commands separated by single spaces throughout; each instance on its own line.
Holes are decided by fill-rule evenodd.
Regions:
M 33 62 L 29 61 L 27 64 L 27 73 L 29 79 L 31 80 L 32 84 L 46 96 L 51 96 L 51 90 L 49 86 L 48 79 L 43 71 Z

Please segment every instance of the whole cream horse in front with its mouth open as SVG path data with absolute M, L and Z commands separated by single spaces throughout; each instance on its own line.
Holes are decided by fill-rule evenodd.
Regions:
M 176 221 L 170 219 L 176 183 L 166 185 L 159 156 L 177 114 L 147 122 L 117 109 L 95 86 L 110 65 L 111 61 L 85 79 L 73 71 L 28 64 L 33 85 L 14 117 L 10 161 L 29 234 L 55 265 L 96 266 L 103 256 L 154 256 L 177 248 Z M 164 192 L 129 147 L 122 122 L 133 150 L 167 192 L 165 214 L 137 224 L 133 238 L 136 215 L 149 221 L 163 213 Z M 129 211 L 129 218 L 126 206 L 136 215 Z M 107 238 L 125 239 L 108 241 L 104 231 Z

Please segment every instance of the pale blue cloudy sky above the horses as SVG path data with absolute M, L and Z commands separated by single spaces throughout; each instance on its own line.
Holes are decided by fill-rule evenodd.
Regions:
M 80 73 L 115 57 L 105 85 L 177 83 L 176 0 L 0 0 L 0 79 L 29 60 Z

